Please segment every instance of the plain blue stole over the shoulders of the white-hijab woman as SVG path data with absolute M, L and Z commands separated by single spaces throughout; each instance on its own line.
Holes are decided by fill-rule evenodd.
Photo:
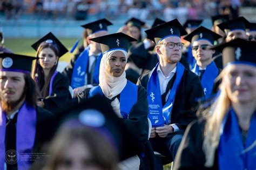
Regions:
M 94 86 L 89 91 L 88 98 L 96 95 L 104 96 L 100 86 Z M 129 117 L 129 113 L 134 104 L 137 103 L 138 98 L 138 86 L 133 84 L 131 81 L 127 80 L 127 84 L 120 93 L 120 112 L 124 119 Z

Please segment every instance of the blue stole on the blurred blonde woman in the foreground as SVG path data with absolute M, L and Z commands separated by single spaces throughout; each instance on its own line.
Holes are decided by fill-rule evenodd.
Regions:
M 220 170 L 256 168 L 256 112 L 251 118 L 245 146 L 237 116 L 233 109 L 227 113 L 220 128 L 218 162 Z

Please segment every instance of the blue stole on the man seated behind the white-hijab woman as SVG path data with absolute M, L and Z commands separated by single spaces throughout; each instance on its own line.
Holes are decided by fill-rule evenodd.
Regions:
M 75 62 L 71 79 L 71 87 L 73 89 L 85 85 L 85 74 L 89 63 L 89 49 L 90 46 L 87 46 Z M 93 72 L 93 83 L 96 84 L 99 84 L 99 64 L 101 59 L 102 55 L 96 58 L 95 69 Z

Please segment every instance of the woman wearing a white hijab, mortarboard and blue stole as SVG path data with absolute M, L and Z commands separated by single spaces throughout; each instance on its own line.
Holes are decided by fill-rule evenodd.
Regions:
M 131 130 L 131 134 L 127 134 L 126 137 L 125 151 L 120 155 L 122 160 L 120 169 L 139 169 L 139 166 L 150 169 L 152 163 L 149 162 L 152 161 L 145 160 L 145 152 L 150 155 L 153 153 L 148 149 L 150 145 L 147 139 L 149 133 L 147 92 L 144 87 L 127 80 L 124 71 L 129 42 L 136 39 L 119 32 L 90 40 L 100 43 L 103 52 L 99 69 L 99 86 L 86 89 L 78 98 L 81 101 L 97 94 L 102 95 Z M 143 153 L 144 156 L 141 156 Z

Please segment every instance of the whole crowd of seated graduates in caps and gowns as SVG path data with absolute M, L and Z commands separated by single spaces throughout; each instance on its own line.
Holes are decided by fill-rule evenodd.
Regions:
M 0 169 L 255 169 L 256 24 L 202 22 L 86 23 L 62 73 L 51 32 L 32 57 L 2 45 Z

